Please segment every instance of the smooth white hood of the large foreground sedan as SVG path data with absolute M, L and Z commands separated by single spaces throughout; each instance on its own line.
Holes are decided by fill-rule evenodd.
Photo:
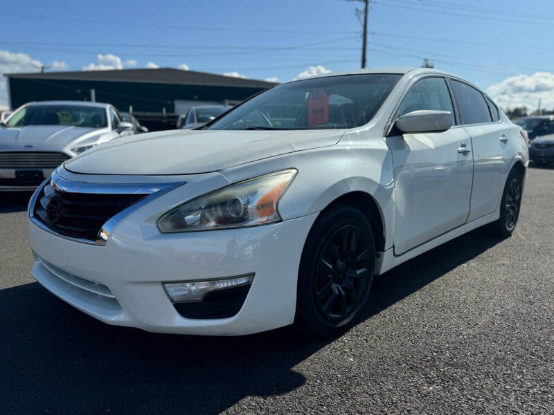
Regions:
M 339 142 L 344 130 L 163 131 L 109 142 L 66 161 L 84 174 L 196 174 Z

